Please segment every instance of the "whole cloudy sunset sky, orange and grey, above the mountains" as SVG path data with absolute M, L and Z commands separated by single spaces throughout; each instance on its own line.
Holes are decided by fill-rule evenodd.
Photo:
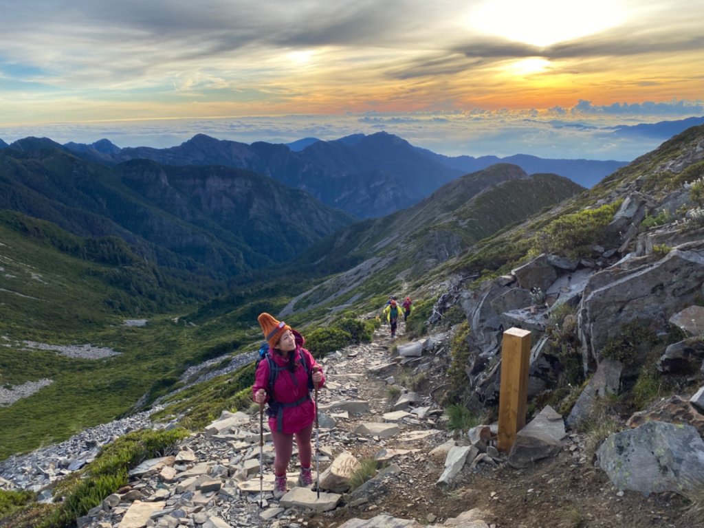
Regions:
M 622 159 L 704 115 L 701 0 L 0 0 L 0 139 L 172 146 L 379 130 Z M 576 126 L 571 126 L 576 125 Z

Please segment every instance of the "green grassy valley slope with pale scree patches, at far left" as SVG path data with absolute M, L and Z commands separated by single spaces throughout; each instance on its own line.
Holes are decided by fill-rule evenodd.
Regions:
M 127 413 L 217 342 L 190 342 L 196 329 L 164 316 L 139 326 L 192 309 L 217 285 L 165 274 L 117 237 L 0 211 L 0 273 L 0 458 Z

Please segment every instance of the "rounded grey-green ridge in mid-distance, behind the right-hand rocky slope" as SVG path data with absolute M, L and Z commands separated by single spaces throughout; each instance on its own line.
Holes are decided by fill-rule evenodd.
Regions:
M 567 178 L 529 177 L 515 165 L 465 175 L 415 206 L 347 227 L 308 249 L 303 258 L 314 267 L 332 271 L 337 265 L 336 271 L 342 271 L 351 258 L 356 265 L 298 296 L 284 313 L 320 303 L 334 306 L 396 291 L 401 282 L 422 281 L 425 272 L 477 241 L 580 191 Z

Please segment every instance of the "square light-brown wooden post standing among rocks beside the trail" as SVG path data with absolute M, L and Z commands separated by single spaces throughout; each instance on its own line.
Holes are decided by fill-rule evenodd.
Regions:
M 529 360 L 530 332 L 520 328 L 503 332 L 496 448 L 505 453 L 511 450 L 516 433 L 526 425 Z

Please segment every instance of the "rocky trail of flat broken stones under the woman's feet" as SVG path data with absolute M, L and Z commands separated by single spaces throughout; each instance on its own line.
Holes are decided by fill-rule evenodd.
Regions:
M 455 467 L 449 482 L 439 482 L 446 474 L 448 451 L 453 446 L 469 449 L 472 444 L 471 435 L 453 438 L 444 410 L 431 396 L 439 397 L 439 389 L 447 381 L 449 337 L 434 335 L 423 340 L 421 355 L 400 356 L 403 331 L 402 322 L 398 338 L 391 339 L 388 327 L 382 326 L 371 344 L 350 346 L 322 360 L 327 386 L 319 392 L 320 498 L 315 491 L 294 487 L 298 475 L 294 453 L 289 467 L 290 491 L 276 501 L 271 493 L 270 442 L 263 447 L 263 481 L 258 477 L 258 414 L 223 413 L 220 420 L 184 439 L 175 453 L 135 468 L 130 485 L 77 520 L 78 527 L 703 525 L 697 524 L 699 520 L 688 512 L 684 499 L 675 494 L 644 498 L 614 489 L 594 467 L 584 439 L 574 433 L 567 434 L 557 455 L 522 470 L 492 451 L 489 441 L 489 448 L 485 443 L 483 451 L 491 455 L 472 451 L 471 458 Z M 427 346 L 427 340 L 432 346 Z M 414 345 L 420 351 L 421 344 Z M 405 386 L 411 384 L 415 392 Z M 81 442 L 83 452 L 100 444 L 87 434 Z M 313 443 L 315 448 L 315 432 Z M 80 465 L 71 465 L 75 461 L 70 460 L 72 456 L 67 453 L 58 466 L 77 469 Z M 48 482 L 69 472 L 62 473 L 56 461 L 46 460 L 46 455 L 32 458 L 30 453 L 14 465 L 0 466 L 0 476 L 6 484 L 23 482 L 30 488 L 32 482 L 38 484 L 28 475 L 39 475 Z M 364 460 L 377 460 L 381 469 L 365 484 L 348 491 L 346 477 Z

